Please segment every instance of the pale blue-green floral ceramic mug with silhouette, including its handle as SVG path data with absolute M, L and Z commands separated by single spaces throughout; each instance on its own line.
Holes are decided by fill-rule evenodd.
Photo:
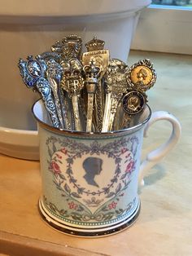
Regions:
M 155 166 L 177 143 L 181 126 L 172 114 L 148 105 L 138 124 L 126 130 L 86 133 L 50 126 L 40 101 L 33 105 L 40 138 L 42 218 L 61 232 L 104 236 L 120 232 L 137 219 L 138 177 Z M 172 124 L 166 143 L 140 165 L 143 135 L 158 120 Z

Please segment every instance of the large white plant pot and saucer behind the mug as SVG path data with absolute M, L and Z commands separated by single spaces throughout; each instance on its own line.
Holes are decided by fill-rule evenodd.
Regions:
M 150 0 L 4 2 L 0 10 L 0 152 L 38 159 L 37 126 L 31 113 L 38 95 L 22 82 L 17 68 L 20 57 L 25 59 L 27 55 L 50 51 L 57 40 L 75 33 L 84 43 L 94 36 L 103 39 L 111 57 L 126 61 L 140 11 L 150 3 Z M 23 135 L 28 139 L 20 152 Z M 12 144 L 18 148 L 13 150 Z M 28 150 L 33 153 L 28 154 Z

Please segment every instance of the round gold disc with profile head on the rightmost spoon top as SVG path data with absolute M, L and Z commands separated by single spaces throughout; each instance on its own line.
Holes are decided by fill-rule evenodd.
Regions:
M 133 68 L 130 78 L 134 85 L 147 86 L 151 82 L 152 77 L 151 69 L 141 65 Z

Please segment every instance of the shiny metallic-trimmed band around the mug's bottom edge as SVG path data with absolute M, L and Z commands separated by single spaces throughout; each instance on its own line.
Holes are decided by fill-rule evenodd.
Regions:
M 140 201 L 137 202 L 137 208 L 123 221 L 118 223 L 113 223 L 108 227 L 96 227 L 96 228 L 85 228 L 85 227 L 72 227 L 66 223 L 59 221 L 58 219 L 50 216 L 50 214 L 45 210 L 43 202 L 41 198 L 38 204 L 38 210 L 41 214 L 41 218 L 43 218 L 46 223 L 48 223 L 51 227 L 55 228 L 59 232 L 63 232 L 65 234 L 71 236 L 85 236 L 85 237 L 100 237 L 100 236 L 109 236 L 112 234 L 116 234 L 117 232 L 123 231 L 125 228 L 130 227 L 135 223 L 137 217 L 140 213 L 141 205 Z

